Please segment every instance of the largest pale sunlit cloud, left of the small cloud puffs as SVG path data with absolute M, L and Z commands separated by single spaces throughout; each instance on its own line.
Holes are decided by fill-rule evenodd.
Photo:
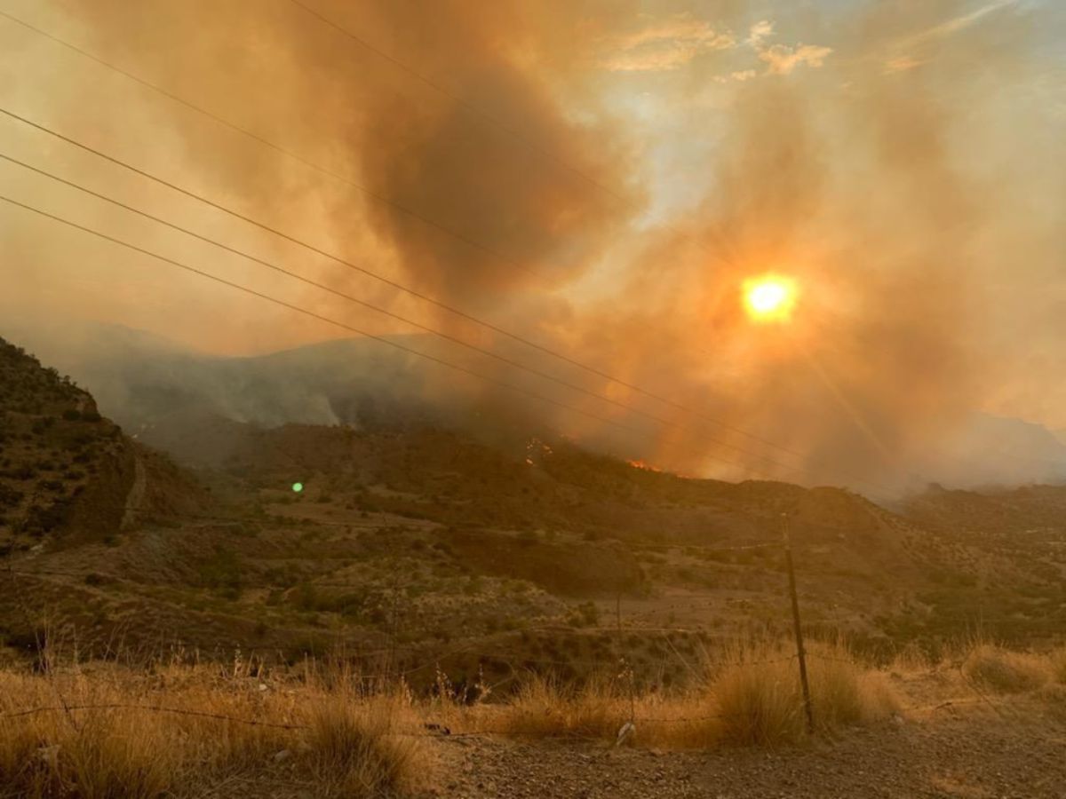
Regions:
M 737 39 L 728 31 L 716 31 L 704 20 L 679 14 L 621 35 L 612 44 L 615 52 L 602 66 L 616 72 L 635 72 L 677 69 L 701 53 L 736 47 Z

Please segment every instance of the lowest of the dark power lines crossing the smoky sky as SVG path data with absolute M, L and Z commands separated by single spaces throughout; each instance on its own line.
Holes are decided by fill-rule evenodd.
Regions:
M 519 393 L 519 394 L 523 394 L 523 395 L 529 396 L 531 398 L 537 399 L 538 402 L 547 403 L 547 404 L 553 405 L 555 407 L 559 407 L 559 408 L 562 408 L 564 410 L 568 410 L 568 411 L 571 411 L 571 412 L 575 412 L 575 413 L 580 413 L 581 415 L 588 417 L 589 419 L 594 419 L 594 420 L 602 422 L 604 424 L 609 424 L 609 425 L 611 425 L 613 427 L 616 427 L 616 428 L 621 429 L 621 430 L 626 430 L 626 431 L 628 431 L 630 434 L 634 434 L 634 435 L 637 435 L 637 436 L 646 435 L 645 431 L 640 430 L 640 429 L 637 429 L 635 427 L 631 427 L 629 425 L 623 424 L 621 422 L 617 422 L 616 420 L 609 419 L 607 417 L 600 417 L 599 414 L 593 413 L 591 411 L 587 411 L 587 410 L 584 410 L 584 409 L 581 409 L 581 408 L 577 408 L 577 407 L 575 407 L 572 405 L 568 405 L 568 404 L 560 402 L 558 399 L 553 399 L 552 397 L 546 396 L 546 395 L 537 393 L 535 391 L 530 391 L 530 390 L 523 389 L 523 388 L 521 388 L 519 386 L 515 386 L 514 384 L 506 382 L 505 380 L 500 380 L 500 379 L 497 379 L 495 377 L 490 377 L 488 375 L 484 375 L 484 374 L 482 374 L 480 372 L 477 372 L 477 371 L 474 371 L 472 369 L 468 369 L 466 366 L 463 366 L 461 364 L 457 364 L 457 363 L 454 363 L 452 361 L 446 360 L 443 358 L 438 358 L 437 356 L 430 355 L 429 353 L 423 353 L 423 352 L 421 352 L 419 349 L 415 349 L 414 347 L 409 347 L 409 346 L 407 346 L 405 344 L 401 344 L 400 342 L 392 341 L 391 339 L 388 339 L 388 338 L 386 338 L 384 336 L 377 336 L 375 333 L 367 332 L 366 330 L 362 330 L 360 328 L 354 327 L 353 325 L 350 325 L 350 324 L 348 324 L 345 322 L 340 322 L 340 321 L 332 319 L 329 316 L 325 316 L 323 314 L 320 314 L 320 313 L 318 313 L 316 311 L 311 311 L 311 310 L 308 310 L 308 309 L 303 308 L 301 306 L 294 305 L 292 303 L 288 303 L 288 301 L 286 301 L 284 299 L 278 299 L 277 297 L 274 297 L 274 296 L 272 296 L 270 294 L 264 294 L 264 293 L 262 293 L 260 291 L 257 291 L 255 289 L 248 288 L 248 287 L 243 286 L 241 283 L 236 283 L 236 282 L 232 282 L 230 280 L 226 280 L 225 278 L 219 277 L 217 275 L 212 275 L 211 273 L 204 272 L 203 270 L 198 270 L 195 266 L 190 266 L 189 264 L 182 263 L 180 261 L 176 261 L 173 258 L 167 258 L 166 256 L 161 256 L 158 252 L 152 252 L 149 249 L 145 249 L 144 247 L 140 247 L 140 246 L 135 245 L 135 244 L 131 244 L 131 243 L 129 243 L 127 241 L 124 241 L 122 239 L 117 239 L 117 238 L 115 238 L 113 235 L 109 235 L 108 233 L 103 233 L 103 232 L 101 232 L 99 230 L 95 230 L 95 229 L 86 227 L 84 225 L 79 225 L 76 222 L 71 222 L 70 219 L 64 218 L 62 216 L 58 216 L 56 214 L 49 213 L 49 212 L 44 211 L 44 210 L 42 210 L 39 208 L 36 208 L 34 206 L 30 206 L 30 205 L 27 205 L 25 202 L 20 202 L 19 200 L 13 199 L 12 197 L 7 197 L 6 195 L 0 194 L 0 200 L 3 200 L 4 202 L 9 202 L 12 206 L 16 206 L 16 207 L 21 208 L 21 209 L 23 209 L 26 211 L 30 211 L 32 213 L 38 214 L 38 215 L 44 216 L 46 218 L 49 218 L 49 219 L 51 219 L 53 222 L 58 222 L 60 224 L 66 225 L 66 226 L 71 227 L 71 228 L 75 228 L 75 229 L 80 230 L 82 232 L 90 233 L 91 235 L 98 237 L 98 238 L 103 239 L 106 241 L 109 241 L 109 242 L 111 242 L 113 244 L 117 244 L 119 246 L 127 247 L 128 249 L 131 249 L 131 250 L 133 250 L 135 252 L 140 252 L 140 254 L 148 256 L 150 258 L 155 258 L 155 259 L 157 259 L 159 261 L 163 261 L 164 263 L 171 264 L 173 266 L 176 266 L 178 268 L 181 268 L 181 270 L 184 270 L 187 272 L 193 273 L 195 275 L 199 275 L 200 277 L 207 278 L 209 280 L 213 280 L 213 281 L 215 281 L 217 283 L 222 283 L 223 286 L 227 286 L 227 287 L 229 287 L 231 289 L 237 289 L 238 291 L 245 292 L 245 293 L 251 294 L 253 296 L 259 297 L 260 299 L 264 299 L 264 300 L 266 300 L 269 303 L 273 303 L 275 305 L 278 305 L 278 306 L 280 306 L 282 308 L 288 308 L 289 310 L 296 311 L 297 313 L 303 313 L 304 315 L 310 316 L 312 319 L 317 319 L 317 320 L 319 320 L 321 322 L 325 322 L 327 324 L 335 325 L 337 327 L 343 328 L 345 330 L 349 330 L 351 332 L 356 333 L 357 336 L 362 336 L 362 337 L 371 339 L 373 341 L 377 341 L 377 342 L 379 342 L 382 344 L 387 344 L 388 346 L 395 347 L 397 349 L 405 352 L 405 353 L 407 353 L 409 355 L 414 355 L 414 356 L 417 356 L 417 357 L 420 357 L 420 358 L 425 358 L 426 360 L 430 360 L 430 361 L 432 361 L 434 363 L 437 363 L 437 364 L 442 365 L 442 366 L 447 366 L 449 369 L 455 370 L 457 372 L 461 372 L 463 374 L 469 375 L 471 377 L 475 377 L 475 378 L 478 378 L 480 380 L 483 380 L 483 381 L 488 382 L 490 385 L 494 385 L 494 386 L 497 386 L 499 388 L 505 389 L 507 391 L 512 391 L 512 392 L 516 392 L 516 393 Z M 711 458 L 712 460 L 717 460 L 717 461 L 720 461 L 722 463 L 725 463 L 727 466 L 732 466 L 732 467 L 738 467 L 739 466 L 739 467 L 742 467 L 742 468 L 745 468 L 745 469 L 750 469 L 752 471 L 757 472 L 757 473 L 761 471 L 759 469 L 750 467 L 747 463 L 739 463 L 737 461 L 732 461 L 732 460 L 728 460 L 726 458 L 722 458 L 722 457 L 720 457 L 717 455 L 712 455 L 712 454 L 705 453 L 705 452 L 701 452 L 700 454 L 704 457 Z M 766 474 L 765 472 L 762 472 L 762 473 L 764 474 L 764 476 L 769 477 L 770 479 L 774 479 L 775 478 L 772 475 Z

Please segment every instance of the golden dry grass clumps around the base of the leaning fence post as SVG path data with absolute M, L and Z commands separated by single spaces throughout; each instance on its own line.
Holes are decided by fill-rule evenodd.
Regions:
M 819 732 L 884 718 L 898 703 L 884 675 L 843 647 L 814 647 L 809 676 Z M 705 680 L 678 694 L 630 699 L 624 679 L 582 687 L 532 679 L 502 705 L 454 713 L 457 729 L 504 735 L 581 735 L 614 741 L 630 720 L 640 746 L 706 749 L 774 746 L 807 736 L 795 659 L 776 645 L 737 647 L 709 663 Z

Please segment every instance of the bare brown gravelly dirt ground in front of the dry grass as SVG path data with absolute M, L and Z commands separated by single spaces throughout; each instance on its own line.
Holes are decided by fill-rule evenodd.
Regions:
M 1066 797 L 1066 729 L 948 708 L 776 752 L 662 753 L 601 745 L 442 739 L 440 784 L 456 799 Z

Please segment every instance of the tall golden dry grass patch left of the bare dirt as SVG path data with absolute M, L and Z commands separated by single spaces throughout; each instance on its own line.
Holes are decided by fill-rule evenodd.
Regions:
M 30 707 L 48 710 L 3 717 Z M 430 770 L 421 732 L 402 695 L 325 689 L 306 678 L 261 682 L 208 668 L 0 672 L 0 796 L 181 797 L 244 779 L 313 783 L 316 796 L 381 796 Z

